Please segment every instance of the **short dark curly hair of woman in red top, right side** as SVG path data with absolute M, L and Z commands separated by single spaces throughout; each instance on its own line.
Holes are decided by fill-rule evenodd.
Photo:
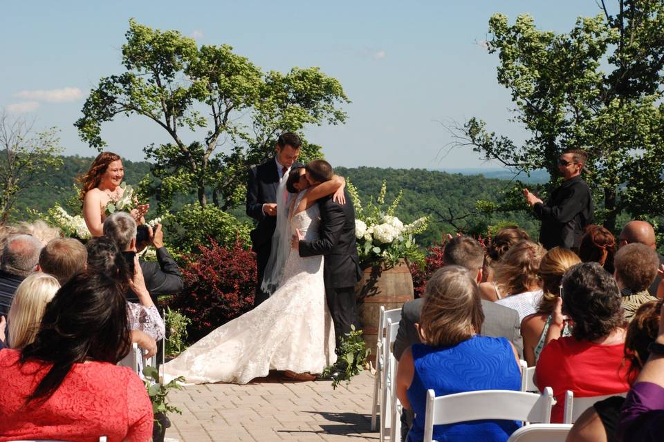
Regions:
M 562 309 L 574 321 L 572 335 L 595 340 L 623 325 L 616 280 L 597 262 L 573 265 L 562 278 Z

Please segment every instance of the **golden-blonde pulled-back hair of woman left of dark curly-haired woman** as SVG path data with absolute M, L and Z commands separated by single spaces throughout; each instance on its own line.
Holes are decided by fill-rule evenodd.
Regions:
M 555 303 L 560 296 L 562 276 L 567 269 L 579 262 L 581 262 L 581 258 L 569 249 L 553 247 L 553 249 L 546 252 L 546 255 L 540 261 L 540 278 L 542 278 L 544 296 L 542 296 L 537 313 L 553 313 Z

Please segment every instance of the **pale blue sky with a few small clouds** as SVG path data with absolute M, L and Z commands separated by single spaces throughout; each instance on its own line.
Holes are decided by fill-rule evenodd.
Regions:
M 122 73 L 129 18 L 176 29 L 199 44 L 230 44 L 264 70 L 320 66 L 352 103 L 343 126 L 308 127 L 333 165 L 406 168 L 495 167 L 470 149 L 445 148 L 444 124 L 477 116 L 497 133 L 510 124 L 510 95 L 496 81 L 497 56 L 478 42 L 495 12 L 522 13 L 566 32 L 600 11 L 593 0 L 559 1 L 12 1 L 0 15 L 0 107 L 36 126 L 60 129 L 68 154 L 95 155 L 73 122 L 100 77 Z M 144 117 L 102 126 L 109 150 L 142 160 L 168 142 Z M 195 137 L 185 137 L 192 141 Z

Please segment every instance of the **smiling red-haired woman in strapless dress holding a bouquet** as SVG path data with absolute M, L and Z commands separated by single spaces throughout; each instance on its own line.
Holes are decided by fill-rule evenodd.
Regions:
M 80 177 L 82 184 L 80 200 L 83 202 L 83 219 L 92 236 L 102 236 L 102 223 L 106 219 L 106 206 L 111 201 L 122 198 L 124 189 L 120 187 L 124 177 L 124 167 L 120 155 L 102 152 L 90 165 L 85 175 Z M 149 204 L 140 204 L 131 210 L 134 220 L 140 221 L 147 213 Z

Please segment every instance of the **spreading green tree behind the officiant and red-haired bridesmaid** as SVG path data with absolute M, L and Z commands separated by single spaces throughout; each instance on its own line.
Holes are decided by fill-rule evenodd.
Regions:
M 338 108 L 349 102 L 341 84 L 319 68 L 264 73 L 228 45 L 199 47 L 178 31 L 133 19 L 126 37 L 126 71 L 100 80 L 75 126 L 99 149 L 102 123 L 118 114 L 142 115 L 162 127 L 170 142 L 144 150 L 164 209 L 178 193 L 195 193 L 201 206 L 210 193 L 223 210 L 237 206 L 246 167 L 273 153 L 279 133 L 346 119 Z M 320 156 L 320 146 L 305 143 L 303 156 Z

